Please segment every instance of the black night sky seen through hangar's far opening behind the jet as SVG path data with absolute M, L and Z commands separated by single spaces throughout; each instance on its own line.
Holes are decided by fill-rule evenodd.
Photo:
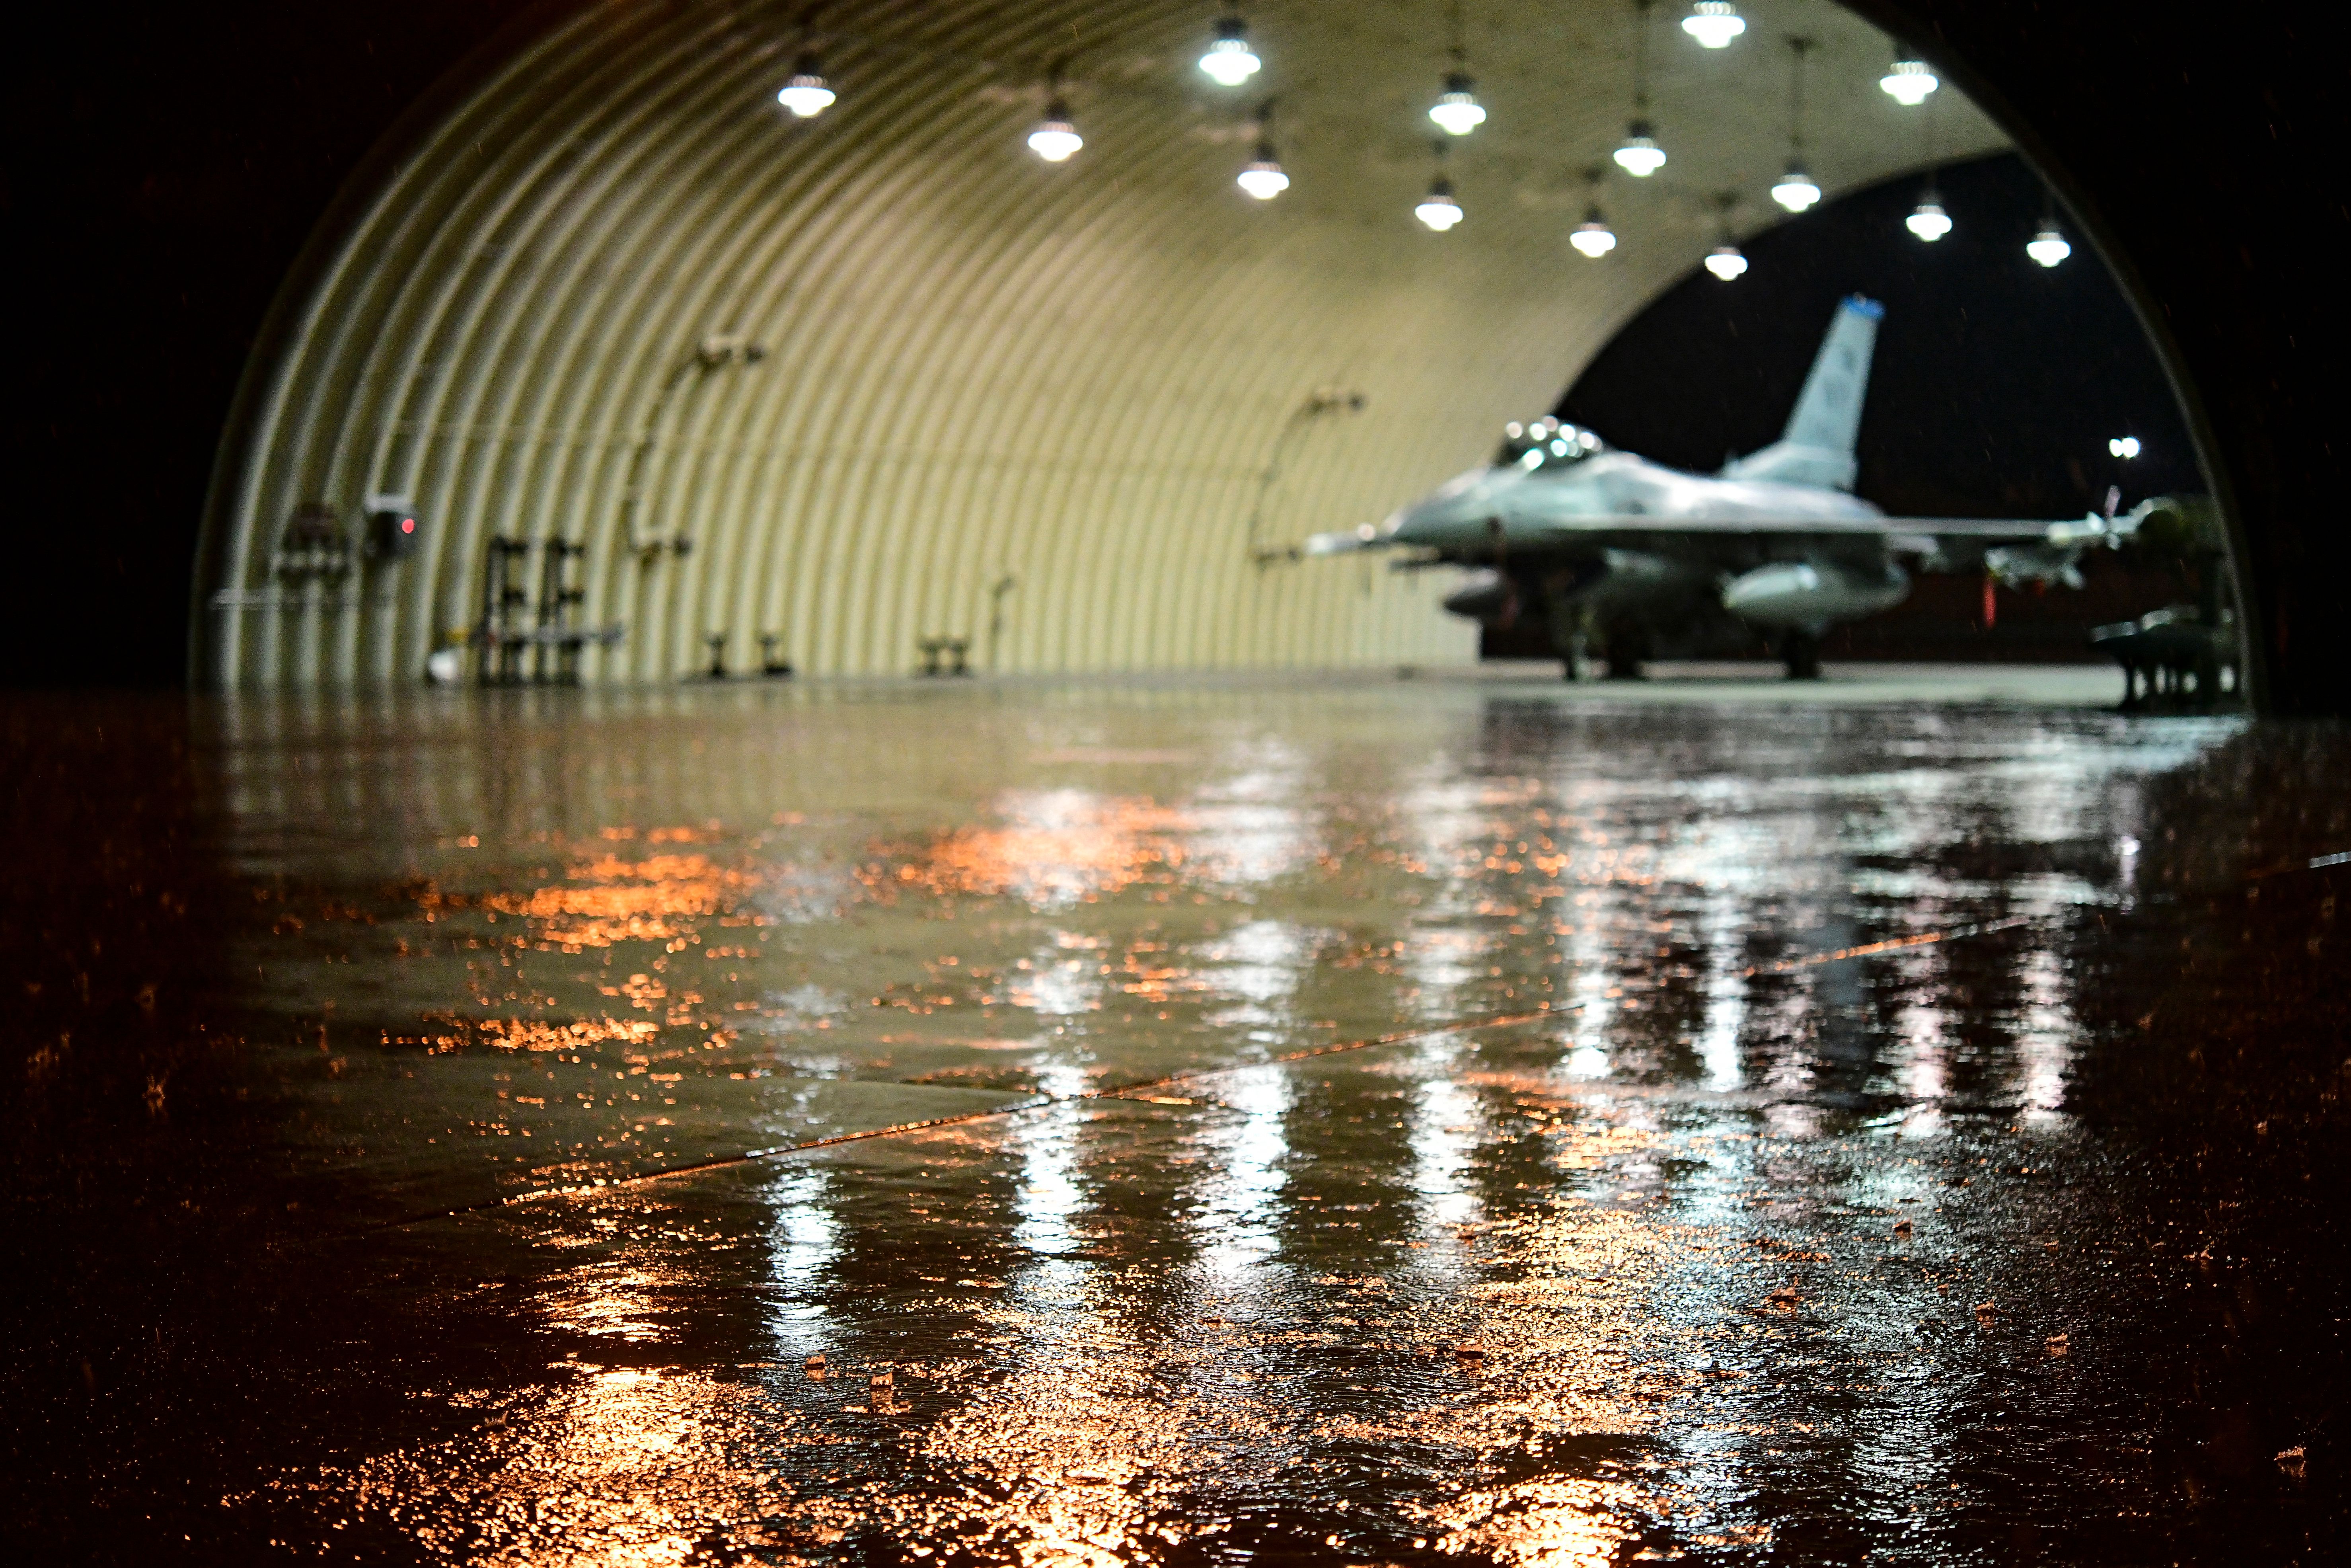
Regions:
M 1744 244 L 1735 282 L 1695 270 L 1641 313 L 1559 416 L 1676 468 L 1780 437 L 1829 313 L 1886 303 L 1855 491 L 1900 515 L 2067 517 L 2123 484 L 2203 491 L 2186 423 L 2130 301 L 2059 209 L 2074 256 L 2034 266 L 2041 179 L 2012 153 L 1942 169 L 1954 230 L 1902 219 L 1918 176 L 1822 202 Z M 1573 263 L 1573 259 L 1570 259 Z M 2125 465 L 2106 440 L 2137 435 Z

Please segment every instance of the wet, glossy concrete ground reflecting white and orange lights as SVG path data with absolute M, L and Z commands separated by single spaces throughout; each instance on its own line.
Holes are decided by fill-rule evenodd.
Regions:
M 2339 1561 L 2351 733 L 2050 691 L 14 698 L 12 1556 Z

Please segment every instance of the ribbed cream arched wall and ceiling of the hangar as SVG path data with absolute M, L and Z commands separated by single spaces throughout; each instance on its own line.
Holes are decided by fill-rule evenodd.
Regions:
M 1436 583 L 1258 564 L 1251 520 L 1286 545 L 1479 461 L 1716 242 L 1716 193 L 1737 228 L 1777 216 L 1787 35 L 1817 40 L 1831 193 L 2003 141 L 1947 89 L 1930 148 L 1843 9 L 1742 9 L 1723 52 L 1650 19 L 1672 162 L 1610 169 L 1596 263 L 1566 235 L 1629 113 L 1620 0 L 1467 7 L 1493 118 L 1451 148 L 1446 235 L 1411 216 L 1436 5 L 1251 7 L 1239 92 L 1192 66 L 1197 0 L 839 5 L 811 122 L 773 99 L 797 7 L 567 14 L 381 160 L 289 284 L 207 517 L 197 670 L 416 679 L 480 621 L 494 538 L 531 543 L 527 590 L 548 541 L 583 548 L 578 618 L 625 628 L 590 677 L 694 670 L 722 632 L 731 668 L 771 635 L 811 672 L 907 670 L 933 635 L 1004 670 L 1467 658 Z M 1056 63 L 1086 134 L 1060 167 L 1023 146 Z M 1260 205 L 1234 172 L 1265 99 L 1295 183 Z M 350 527 L 371 494 L 414 498 L 421 548 L 289 581 L 296 508 Z

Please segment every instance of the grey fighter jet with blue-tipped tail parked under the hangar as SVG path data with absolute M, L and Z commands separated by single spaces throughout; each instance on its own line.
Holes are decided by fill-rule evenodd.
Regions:
M 1305 552 L 1401 548 L 1418 552 L 1401 567 L 1469 567 L 1446 609 L 1505 628 L 1542 616 L 1568 679 L 1585 651 L 1636 677 L 1643 661 L 1751 646 L 1756 632 L 1791 679 L 1810 679 L 1822 635 L 1900 604 L 1911 571 L 2078 588 L 2083 550 L 2128 538 L 2146 505 L 2116 517 L 2109 494 L 2104 517 L 1987 522 L 1888 517 L 1850 494 L 1883 315 L 1846 299 L 1784 435 L 1716 475 L 1613 451 L 1556 418 L 1512 423 L 1493 463 L 1382 524 L 1317 534 Z

